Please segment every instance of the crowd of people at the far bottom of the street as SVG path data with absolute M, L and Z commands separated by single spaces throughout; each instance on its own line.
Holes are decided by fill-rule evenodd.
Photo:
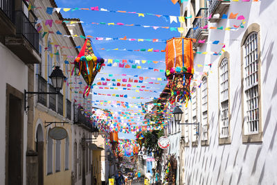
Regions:
M 154 171 L 153 171 L 154 172 Z M 134 173 L 127 173 L 123 175 L 123 173 L 119 170 L 118 174 L 115 177 L 116 185 L 131 185 L 132 182 L 142 182 L 144 180 L 145 185 L 160 185 L 161 179 L 159 170 L 156 170 L 154 175 L 150 173 L 150 170 L 148 170 L 148 173 L 145 174 L 145 177 L 143 178 L 140 171 L 135 171 Z

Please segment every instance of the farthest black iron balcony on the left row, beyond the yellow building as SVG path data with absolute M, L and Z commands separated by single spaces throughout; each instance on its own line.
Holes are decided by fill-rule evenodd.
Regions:
M 86 130 L 92 131 L 92 124 L 89 117 L 85 116 L 84 109 L 80 106 L 74 106 L 74 124 L 83 127 Z

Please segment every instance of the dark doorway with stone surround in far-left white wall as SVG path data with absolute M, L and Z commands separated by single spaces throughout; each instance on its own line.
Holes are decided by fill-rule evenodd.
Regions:
M 23 94 L 7 84 L 6 184 L 23 184 Z

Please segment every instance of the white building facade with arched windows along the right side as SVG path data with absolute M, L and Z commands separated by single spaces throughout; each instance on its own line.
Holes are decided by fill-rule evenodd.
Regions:
M 195 81 L 188 107 L 183 106 L 183 123 L 199 122 L 200 132 L 193 125 L 182 126 L 180 184 L 277 182 L 277 67 L 273 64 L 277 37 L 272 31 L 276 21 L 269 18 L 276 6 L 276 1 L 181 4 L 181 16 L 193 17 L 182 24 L 188 31 L 183 35 L 197 39 Z M 222 19 L 231 13 L 238 13 L 236 18 L 243 15 L 244 20 Z M 234 25 L 238 29 L 229 30 Z M 226 52 L 223 44 L 199 44 L 199 39 L 218 40 Z M 219 51 L 222 55 L 213 55 Z

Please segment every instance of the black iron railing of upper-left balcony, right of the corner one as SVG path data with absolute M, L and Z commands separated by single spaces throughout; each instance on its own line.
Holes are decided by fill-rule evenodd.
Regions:
M 36 19 L 36 18 L 34 18 Z M 23 11 L 15 11 L 15 26 L 17 28 L 17 35 L 22 35 L 29 42 L 33 49 L 39 53 L 39 33 L 35 29 L 28 17 Z

